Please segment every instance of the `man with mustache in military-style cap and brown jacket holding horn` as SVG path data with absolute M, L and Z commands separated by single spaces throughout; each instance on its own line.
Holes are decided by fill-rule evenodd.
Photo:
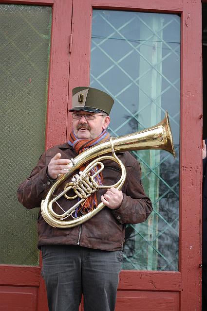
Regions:
M 40 207 L 59 174 L 68 172 L 71 158 L 110 138 L 106 131 L 113 99 L 91 87 L 73 89 L 73 131 L 67 143 L 47 150 L 38 165 L 18 190 L 19 201 L 27 208 Z M 98 190 L 78 206 L 73 217 L 87 213 L 103 202 L 93 218 L 72 228 L 54 228 L 38 217 L 38 247 L 42 251 L 42 276 L 45 279 L 50 311 L 78 311 L 84 296 L 85 311 L 113 311 L 118 275 L 123 259 L 125 224 L 144 222 L 152 211 L 151 201 L 141 184 L 140 165 L 128 152 L 117 156 L 124 163 L 127 178 L 121 190 Z M 104 161 L 97 183 L 113 185 L 121 175 L 116 162 Z M 62 197 L 64 210 L 74 202 Z M 56 205 L 54 208 L 58 208 Z

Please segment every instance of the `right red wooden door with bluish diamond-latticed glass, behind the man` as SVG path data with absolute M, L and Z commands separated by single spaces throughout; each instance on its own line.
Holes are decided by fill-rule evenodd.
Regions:
M 115 120 L 115 128 L 111 128 L 111 132 L 114 135 L 120 132 L 122 124 L 126 124 L 127 121 L 123 119 L 123 116 L 119 118 L 119 110 L 125 109 L 129 116 L 136 120 L 134 124 L 135 127 L 140 129 L 144 127 L 145 120 L 148 120 L 149 114 L 151 115 L 151 120 L 160 121 L 163 116 L 164 110 L 167 108 L 171 111 L 174 104 L 177 105 L 177 113 L 170 113 L 170 122 L 172 125 L 172 132 L 175 136 L 176 142 L 176 154 L 177 154 L 177 168 L 175 173 L 176 182 L 169 186 L 169 181 L 164 181 L 164 175 L 159 175 L 162 164 L 165 162 L 164 155 L 159 154 L 157 160 L 156 156 L 146 156 L 143 153 L 138 156 L 141 160 L 141 164 L 145 168 L 144 164 L 148 164 L 148 169 L 151 170 L 152 178 L 148 178 L 145 183 L 147 185 L 146 191 L 150 193 L 153 206 L 154 215 L 150 218 L 149 222 L 146 224 L 147 229 L 144 231 L 139 229 L 140 227 L 132 227 L 132 233 L 136 231 L 136 234 L 141 236 L 142 239 L 138 241 L 143 243 L 144 247 L 141 254 L 137 255 L 136 262 L 132 262 L 130 257 L 125 253 L 125 269 L 122 270 L 120 274 L 120 282 L 117 293 L 117 304 L 116 310 L 170 310 L 170 311 L 189 311 L 189 310 L 200 310 L 200 285 L 201 285 L 201 231 L 200 231 L 200 215 L 201 215 L 201 137 L 202 137 L 202 61 L 201 61 L 201 2 L 200 1 L 187 1 L 187 0 L 159 0 L 159 1 L 146 1 L 146 0 L 76 0 L 73 3 L 73 21 L 72 21 L 72 36 L 73 45 L 71 53 L 71 63 L 70 63 L 70 78 L 69 78 L 69 94 L 75 86 L 94 86 L 108 91 L 113 97 L 118 108 L 113 112 L 113 120 Z M 117 24 L 113 23 L 114 18 L 116 18 L 121 12 L 122 16 L 117 19 Z M 149 34 L 149 40 L 147 36 L 139 38 L 126 37 L 124 36 L 122 30 L 124 25 L 129 25 L 132 19 L 136 16 L 129 15 L 130 13 L 145 13 L 151 14 L 150 21 L 147 22 L 145 17 L 138 15 L 139 23 L 134 27 L 146 28 L 145 33 L 148 31 L 152 32 L 153 35 Z M 116 17 L 115 15 L 116 14 Z M 126 15 L 125 15 L 126 14 Z M 152 19 L 156 15 L 163 15 L 163 18 L 154 20 L 153 28 Z M 106 22 L 106 27 L 102 27 L 102 24 L 98 22 L 99 16 L 101 20 Z M 125 17 L 129 16 L 126 20 Z M 118 17 L 117 17 L 118 18 Z M 169 19 L 168 19 L 169 18 Z M 125 23 L 125 24 L 124 24 Z M 163 24 L 161 24 L 163 23 Z M 168 27 L 171 23 L 172 28 L 169 29 L 169 36 L 174 35 L 174 33 L 180 35 L 180 41 L 176 39 L 165 39 L 165 33 L 160 32 L 165 27 Z M 141 25 L 141 26 L 140 26 Z M 177 25 L 177 26 L 176 26 Z M 179 26 L 179 29 L 177 28 Z M 108 28 L 107 28 L 108 27 Z M 157 27 L 157 28 L 156 28 Z M 109 29 L 110 28 L 110 29 Z M 131 32 L 134 35 L 135 28 L 132 27 Z M 137 30 L 139 31 L 139 30 Z M 130 31 L 128 30 L 128 33 Z M 116 36 L 114 36 L 116 34 Z M 140 30 L 140 34 L 141 33 Z M 154 36 L 159 38 L 156 39 L 156 44 L 152 46 L 151 61 L 148 59 L 148 50 L 146 46 L 150 45 L 154 40 Z M 100 39 L 100 41 L 95 41 L 95 39 Z M 106 41 L 113 39 L 116 43 L 112 42 L 108 46 Z M 148 76 L 149 79 L 142 79 L 146 72 L 148 71 L 147 66 L 144 61 L 139 58 L 139 66 L 136 63 L 128 62 L 128 68 L 130 66 L 135 66 L 139 75 L 132 77 L 126 69 L 126 64 L 122 66 L 122 62 L 127 53 L 131 53 L 126 49 L 123 56 L 121 52 L 125 49 L 122 46 L 121 41 L 125 41 L 132 49 L 134 49 L 134 40 L 142 41 L 142 50 L 136 48 L 136 52 L 141 55 L 145 63 L 150 66 L 153 64 L 153 69 L 151 70 L 151 75 Z M 101 41 L 102 40 L 102 41 Z M 164 42 L 166 40 L 166 42 Z M 145 41 L 145 44 L 143 44 Z M 150 42 L 151 41 L 151 42 Z M 179 42 L 178 42 L 179 41 Z M 180 44 L 180 52 L 176 48 L 172 47 L 170 44 Z M 117 50 L 116 55 L 113 53 L 116 46 L 119 44 L 120 48 Z M 162 45 L 162 46 L 161 46 Z M 158 49 L 163 49 L 165 45 L 168 52 L 162 50 L 162 55 L 159 53 Z M 138 46 L 138 45 L 137 45 Z M 96 62 L 94 62 L 93 52 L 97 50 Z M 111 50 L 110 50 L 111 49 Z M 109 51 L 110 50 L 110 51 Z M 169 61 L 172 62 L 172 67 L 169 76 L 165 69 L 165 60 L 168 58 L 169 54 L 176 55 L 175 58 L 171 58 Z M 98 55 L 100 54 L 100 55 Z M 120 55 L 119 55 L 120 54 Z M 178 56 L 179 54 L 179 56 Z M 118 55 L 118 56 L 117 56 Z M 116 57 L 117 56 L 117 57 Z M 180 57 L 180 59 L 179 59 Z M 176 61 L 180 62 L 179 66 L 176 65 Z M 102 68 L 102 64 L 106 64 L 106 68 Z M 125 66 L 125 67 L 124 67 Z M 170 65 L 169 65 L 170 66 Z M 114 73 L 113 70 L 117 70 Z M 164 71 L 166 70 L 166 71 Z M 175 70 L 176 76 L 175 76 Z M 180 71 L 179 71 L 180 70 Z M 125 71 L 125 78 L 123 80 L 119 79 L 120 75 Z M 108 76 L 107 76 L 108 74 Z M 177 76 L 178 74 L 178 76 Z M 106 77 L 105 80 L 103 77 Z M 114 88 L 111 85 L 114 80 L 119 81 L 119 85 L 114 84 Z M 154 82 L 156 80 L 156 87 L 154 87 Z M 168 80 L 168 83 L 166 82 Z M 119 87 L 123 83 L 122 87 Z M 137 117 L 137 107 L 132 111 L 130 103 L 124 103 L 124 97 L 120 98 L 120 93 L 123 89 L 126 89 L 130 84 L 135 84 L 137 88 L 130 91 L 130 94 L 134 95 L 136 89 L 139 90 L 137 99 L 139 100 L 139 115 L 143 119 Z M 116 89 L 117 86 L 117 89 Z M 147 90 L 146 90 L 147 88 Z M 168 93 L 168 90 L 173 88 L 174 93 Z M 115 89 L 115 91 L 114 91 Z M 142 92 L 141 92 L 142 90 Z M 137 91 L 138 92 L 138 91 Z M 147 110 L 148 113 L 142 114 L 141 109 L 146 109 L 149 100 L 150 93 L 150 107 Z M 161 96 L 166 92 L 166 97 L 161 100 Z M 145 96 L 146 103 L 145 103 Z M 173 103 L 172 98 L 175 99 Z M 133 100 L 130 98 L 130 100 Z M 175 97 L 174 97 L 175 96 Z M 177 96 L 177 97 L 176 97 Z M 128 97 L 129 98 L 129 97 Z M 162 97 L 163 99 L 163 97 Z M 128 102 L 130 102 L 130 100 Z M 137 101 L 136 101 L 137 102 Z M 119 104 L 119 105 L 118 105 Z M 143 104 L 143 106 L 140 106 Z M 144 106 L 145 104 L 145 106 Z M 69 95 L 69 105 L 71 105 L 71 97 Z M 134 104 L 135 105 L 135 104 Z M 156 109 L 154 108 L 156 105 Z M 130 110 L 131 109 L 131 110 Z M 155 109 L 155 110 L 154 110 Z M 152 111 L 154 113 L 152 113 Z M 117 115 L 117 118 L 116 118 Z M 179 117 L 180 116 L 180 117 Z M 154 117 L 154 118 L 153 118 Z M 125 122 L 126 121 L 126 122 Z M 71 122 L 71 117 L 68 117 L 68 124 Z M 179 132 L 177 132 L 174 127 L 175 123 Z M 138 125 L 137 125 L 138 124 Z M 131 126 L 132 127 L 132 126 Z M 70 132 L 70 125 L 68 126 L 68 133 Z M 129 129 L 127 128 L 127 131 Z M 124 131 L 124 129 L 123 129 Z M 180 133 L 180 134 L 179 134 Z M 122 132 L 122 135 L 124 133 Z M 180 151 L 180 158 L 179 158 Z M 166 155 L 167 156 L 167 155 Z M 146 158 L 152 159 L 147 162 Z M 155 160 L 154 160 L 155 159 Z M 164 162 L 163 162 L 164 161 Z M 166 164 L 166 172 L 173 172 L 174 163 L 170 162 Z M 159 162 L 159 163 L 158 163 Z M 144 163 L 144 164 L 143 164 Z M 157 173 L 157 167 L 160 167 Z M 171 170 L 171 171 L 170 171 Z M 175 172 L 175 171 L 174 171 Z M 147 175 L 147 169 L 145 175 Z M 154 175 L 156 175 L 154 177 Z M 154 178 L 154 179 L 153 179 Z M 162 179 L 162 180 L 161 180 Z M 158 181 L 157 181 L 158 180 Z M 161 181 L 160 181 L 161 180 Z M 168 184 L 167 188 L 163 193 L 162 183 L 165 186 Z M 174 188 L 173 188 L 174 187 Z M 176 188 L 177 187 L 177 188 Z M 169 190 L 170 189 L 170 190 Z M 177 190 L 176 190 L 177 189 Z M 170 214 L 170 200 L 171 197 L 166 195 L 166 193 L 172 191 L 176 198 L 173 204 L 177 204 L 177 218 L 171 219 L 169 221 L 168 216 Z M 177 191 L 177 192 L 176 192 Z M 168 192 L 168 193 L 169 193 Z M 155 195 L 156 194 L 156 195 Z M 164 203 L 160 203 L 158 206 L 158 201 L 162 202 L 161 199 L 165 197 Z M 174 199 L 173 199 L 174 200 Z M 165 214 L 167 213 L 167 214 Z M 178 220 L 179 219 L 179 220 Z M 163 225 L 163 230 L 160 229 L 161 224 Z M 176 226 L 175 226 L 176 224 Z M 159 237 L 170 227 L 169 232 L 172 232 L 172 236 L 177 232 L 177 237 L 179 240 L 171 239 L 171 233 L 167 236 L 169 238 L 169 253 L 166 255 L 165 247 L 162 245 L 162 241 Z M 143 228 L 143 227 L 141 227 Z M 162 232 L 161 232 L 162 231 Z M 142 234 L 142 232 L 144 232 Z M 147 232 L 147 233 L 146 233 Z M 146 236 L 144 236 L 146 234 Z M 155 237 L 154 241 L 151 236 Z M 159 236 L 159 237 L 158 237 Z M 176 234 L 174 235 L 176 236 Z M 156 240 L 158 237 L 158 241 Z M 136 237 L 134 238 L 135 241 Z M 150 240 L 151 239 L 151 240 Z M 133 241 L 131 241 L 133 242 Z M 153 243 L 152 243 L 153 242 Z M 138 247 L 137 242 L 136 247 Z M 175 248 L 174 248 L 175 246 Z M 172 251 L 170 253 L 170 247 Z M 134 250 L 133 246 L 133 250 Z M 137 248 L 136 248 L 137 249 Z M 147 250 L 146 250 L 147 249 Z M 147 252 L 147 254 L 146 254 Z M 174 265 L 170 263 L 171 259 L 177 254 Z M 140 261 L 143 257 L 146 257 L 146 262 L 141 266 Z M 171 255 L 170 255 L 171 254 Z M 178 257 L 179 254 L 179 257 Z M 169 256 L 167 258 L 167 256 Z M 162 262 L 167 262 L 163 264 Z M 145 268 L 146 266 L 146 268 Z M 127 267 L 128 270 L 127 270 Z M 141 267 L 141 268 L 139 268 Z

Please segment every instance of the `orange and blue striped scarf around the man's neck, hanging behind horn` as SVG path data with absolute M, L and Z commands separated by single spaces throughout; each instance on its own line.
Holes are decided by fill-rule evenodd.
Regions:
M 104 130 L 98 137 L 93 139 L 78 139 L 74 131 L 71 132 L 70 138 L 68 140 L 68 144 L 73 147 L 75 152 L 77 154 L 80 154 L 81 152 L 85 151 L 86 149 L 98 144 L 99 142 L 104 142 L 106 140 L 110 139 L 109 133 Z M 83 171 L 86 168 L 87 164 L 81 166 L 80 171 Z M 97 172 L 98 168 L 95 167 L 94 171 L 92 173 Z M 99 173 L 94 180 L 97 182 L 98 185 L 102 185 L 103 182 L 103 176 L 102 173 Z M 77 213 L 80 211 L 82 214 L 86 214 L 90 211 L 92 211 L 95 207 L 97 207 L 97 198 L 95 192 L 90 195 L 82 204 L 80 204 L 80 207 L 77 207 L 75 210 L 75 217 L 77 217 Z

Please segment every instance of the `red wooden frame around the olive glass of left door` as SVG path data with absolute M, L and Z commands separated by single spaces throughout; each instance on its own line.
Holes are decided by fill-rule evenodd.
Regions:
M 69 36 L 71 33 L 73 0 L 0 0 L 0 3 L 52 6 L 45 137 L 45 148 L 48 149 L 66 140 L 70 64 Z M 17 292 L 18 296 L 22 293 L 25 294 L 25 297 L 27 296 L 25 303 L 27 301 L 28 308 L 31 308 L 31 310 L 46 311 L 45 286 L 40 277 L 40 271 L 41 256 L 39 266 L 0 265 L 0 293 L 4 293 L 6 297 L 5 302 L 0 301 L 0 306 L 3 303 L 6 310 L 16 310 L 17 301 L 13 296 L 16 298 L 17 296 L 8 294 L 8 296 L 10 295 L 8 299 L 6 294 Z M 33 298 L 31 298 L 31 295 L 33 295 Z M 21 295 L 21 297 L 23 296 Z

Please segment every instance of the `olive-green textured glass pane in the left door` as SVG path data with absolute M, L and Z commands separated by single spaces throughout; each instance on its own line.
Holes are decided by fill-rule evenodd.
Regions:
M 51 17 L 51 7 L 0 4 L 1 264 L 38 264 L 38 209 L 16 192 L 44 150 Z

